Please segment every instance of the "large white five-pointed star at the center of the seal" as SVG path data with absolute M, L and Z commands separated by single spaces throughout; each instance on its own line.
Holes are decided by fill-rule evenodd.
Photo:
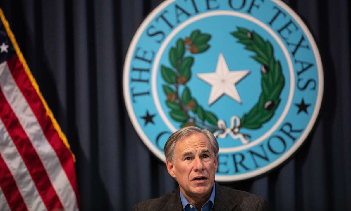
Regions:
M 213 104 L 223 94 L 226 94 L 238 103 L 241 103 L 235 84 L 249 73 L 250 70 L 229 71 L 224 56 L 220 53 L 217 61 L 216 72 L 198 73 L 197 77 L 212 86 L 210 98 L 208 98 L 208 105 Z

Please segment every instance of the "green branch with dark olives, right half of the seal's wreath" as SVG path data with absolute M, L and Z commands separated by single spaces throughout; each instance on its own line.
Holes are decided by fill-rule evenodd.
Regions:
M 238 42 L 245 45 L 245 49 L 256 53 L 251 56 L 261 64 L 262 92 L 259 100 L 249 113 L 245 113 L 240 121 L 240 127 L 257 129 L 270 120 L 280 103 L 280 93 L 284 86 L 284 76 L 280 61 L 274 59 L 273 47 L 269 41 L 264 41 L 254 31 L 237 27 L 231 34 L 238 38 Z

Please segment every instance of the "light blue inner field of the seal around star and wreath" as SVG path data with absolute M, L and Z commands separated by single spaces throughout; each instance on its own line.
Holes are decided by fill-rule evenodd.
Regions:
M 188 83 L 180 86 L 181 89 L 179 94 L 181 95 L 184 87 L 187 86 L 190 89 L 192 96 L 197 100 L 198 104 L 204 108 L 204 110 L 211 111 L 212 113 L 216 114 L 219 119 L 222 119 L 226 122 L 227 127 L 230 127 L 231 117 L 236 115 L 241 118 L 243 117 L 244 113 L 248 113 L 251 108 L 258 102 L 260 93 L 262 91 L 260 71 L 261 64 L 250 57 L 256 54 L 252 51 L 244 49 L 245 45 L 238 43 L 238 39 L 230 34 L 233 31 L 237 31 L 237 27 L 245 27 L 251 31 L 256 31 L 256 33 L 262 36 L 264 40 L 269 40 L 270 43 L 272 43 L 274 49 L 274 57 L 282 64 L 283 75 L 285 78 L 287 78 L 285 80 L 285 86 L 282 90 L 282 94 L 280 95 L 281 102 L 276 110 L 277 115 L 274 115 L 273 118 L 269 122 L 265 123 L 260 129 L 240 129 L 241 133 L 250 134 L 252 136 L 251 140 L 255 140 L 259 138 L 259 136 L 263 135 L 267 130 L 269 130 L 269 128 L 271 128 L 277 121 L 285 107 L 289 94 L 289 68 L 287 66 L 287 62 L 282 50 L 269 33 L 267 33 L 264 29 L 258 27 L 255 23 L 252 23 L 251 21 L 242 19 L 240 17 L 207 17 L 188 25 L 183 30 L 181 30 L 180 33 L 178 33 L 177 36 L 172 39 L 170 44 L 165 49 L 163 56 L 161 57 L 160 64 L 172 68 L 169 62 L 168 52 L 171 47 L 175 46 L 175 43 L 179 38 L 182 38 L 184 40 L 186 36 L 190 36 L 191 32 L 196 29 L 200 29 L 201 33 L 211 34 L 212 37 L 208 42 L 208 44 L 210 44 L 210 48 L 208 48 L 207 51 L 200 54 L 190 54 L 190 52 L 186 52 L 185 56 L 193 56 L 194 58 L 194 63 L 191 68 L 192 76 L 191 80 Z M 196 74 L 215 72 L 218 56 L 220 53 L 223 53 L 230 71 L 250 70 L 249 75 L 244 77 L 240 82 L 236 84 L 242 104 L 239 104 L 237 101 L 233 100 L 227 95 L 223 95 L 212 105 L 208 105 L 211 85 L 198 78 Z M 160 71 L 158 71 L 157 90 L 161 105 L 164 112 L 167 114 L 168 119 L 171 120 L 172 124 L 176 128 L 180 128 L 181 123 L 172 120 L 169 116 L 170 108 L 168 108 L 165 104 L 166 96 L 163 93 L 163 84 L 166 83 L 164 82 Z M 217 140 L 221 148 L 242 145 L 239 139 L 233 140 L 231 136 L 227 136 L 225 139 L 218 138 Z

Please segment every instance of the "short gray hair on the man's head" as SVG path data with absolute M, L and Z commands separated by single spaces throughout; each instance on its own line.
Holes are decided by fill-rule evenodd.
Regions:
M 198 127 L 184 127 L 181 128 L 180 130 L 174 132 L 168 139 L 167 142 L 165 143 L 165 156 L 166 156 L 166 161 L 174 161 L 174 149 L 176 148 L 176 143 L 178 141 L 181 141 L 185 139 L 186 137 L 197 134 L 197 133 L 202 133 L 204 134 L 207 139 L 210 141 L 210 145 L 212 148 L 212 152 L 216 155 L 218 154 L 219 151 L 219 146 L 216 137 L 208 131 L 208 129 L 200 129 Z

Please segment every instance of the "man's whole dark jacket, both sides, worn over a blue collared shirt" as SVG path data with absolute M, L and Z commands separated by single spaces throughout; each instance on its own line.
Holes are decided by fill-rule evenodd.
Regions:
M 248 192 L 234 190 L 218 185 L 212 211 L 232 211 L 232 210 L 267 210 L 265 199 L 250 194 Z M 183 211 L 180 201 L 179 187 L 166 195 L 159 198 L 150 199 L 134 206 L 134 211 Z

